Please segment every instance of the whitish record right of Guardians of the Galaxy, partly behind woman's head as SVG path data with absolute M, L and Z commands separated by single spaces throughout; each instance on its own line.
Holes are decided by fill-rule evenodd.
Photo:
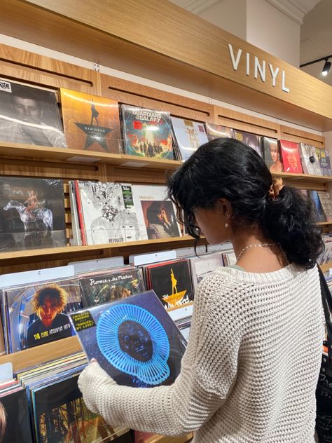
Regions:
M 209 141 L 207 133 L 205 132 L 204 123 L 178 117 L 171 117 L 171 119 L 182 160 L 186 161 L 197 151 L 201 144 Z

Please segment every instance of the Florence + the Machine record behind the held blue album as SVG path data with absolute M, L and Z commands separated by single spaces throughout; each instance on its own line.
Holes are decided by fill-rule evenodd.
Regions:
M 128 266 L 80 277 L 84 308 L 144 292 L 141 270 Z

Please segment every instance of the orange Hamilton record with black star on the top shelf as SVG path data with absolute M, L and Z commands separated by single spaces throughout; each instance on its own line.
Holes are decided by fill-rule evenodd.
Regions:
M 118 102 L 60 88 L 64 134 L 71 149 L 120 154 Z

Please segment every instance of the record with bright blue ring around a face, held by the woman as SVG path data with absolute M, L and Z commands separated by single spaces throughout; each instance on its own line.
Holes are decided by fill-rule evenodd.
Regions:
M 120 385 L 170 384 L 180 373 L 186 340 L 153 291 L 70 314 L 88 360 Z

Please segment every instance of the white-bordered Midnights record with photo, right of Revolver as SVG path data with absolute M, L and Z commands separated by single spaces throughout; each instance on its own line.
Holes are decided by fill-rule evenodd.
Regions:
M 132 185 L 141 240 L 181 236 L 174 204 L 166 186 Z

